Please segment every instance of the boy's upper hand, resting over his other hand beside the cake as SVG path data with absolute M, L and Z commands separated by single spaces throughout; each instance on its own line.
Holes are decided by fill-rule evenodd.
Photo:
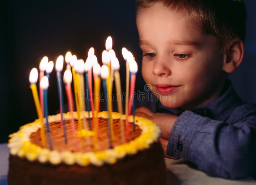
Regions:
M 167 113 L 153 113 L 146 107 L 140 107 L 135 110 L 136 116 L 141 116 L 152 120 L 158 125 L 162 131 L 162 137 L 164 139 L 169 139 L 170 132 L 174 122 L 178 116 L 167 114 Z

